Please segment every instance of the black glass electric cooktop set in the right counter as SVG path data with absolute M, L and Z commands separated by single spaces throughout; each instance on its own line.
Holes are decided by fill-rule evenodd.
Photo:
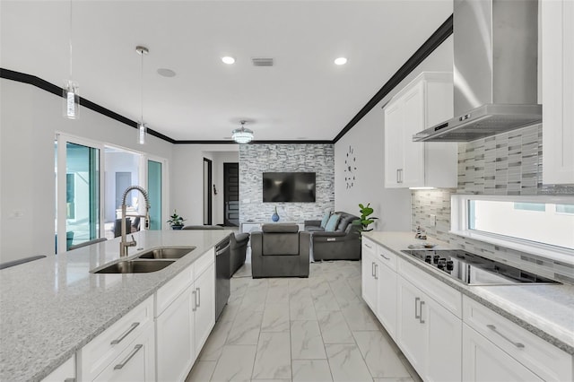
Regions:
M 468 285 L 560 283 L 461 249 L 405 249 L 401 252 Z

